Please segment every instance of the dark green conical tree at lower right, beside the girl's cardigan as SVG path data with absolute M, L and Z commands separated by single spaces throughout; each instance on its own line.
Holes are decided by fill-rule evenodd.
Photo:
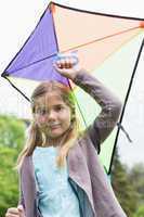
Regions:
M 114 157 L 114 167 L 112 173 L 112 184 L 119 203 L 129 217 L 133 217 L 140 200 L 139 193 L 128 176 L 128 168 L 120 162 L 118 152 Z

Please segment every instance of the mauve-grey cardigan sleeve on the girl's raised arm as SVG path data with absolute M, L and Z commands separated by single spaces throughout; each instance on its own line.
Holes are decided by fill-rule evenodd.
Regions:
M 88 92 L 101 106 L 100 114 L 87 129 L 94 146 L 100 152 L 100 144 L 105 141 L 117 124 L 121 102 L 101 81 L 84 71 L 79 72 L 73 81 Z

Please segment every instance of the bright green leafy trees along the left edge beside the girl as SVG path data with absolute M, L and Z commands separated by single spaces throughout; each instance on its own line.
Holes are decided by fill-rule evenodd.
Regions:
M 25 124 L 16 117 L 0 116 L 0 216 L 17 205 L 18 180 L 14 170 L 24 144 Z

